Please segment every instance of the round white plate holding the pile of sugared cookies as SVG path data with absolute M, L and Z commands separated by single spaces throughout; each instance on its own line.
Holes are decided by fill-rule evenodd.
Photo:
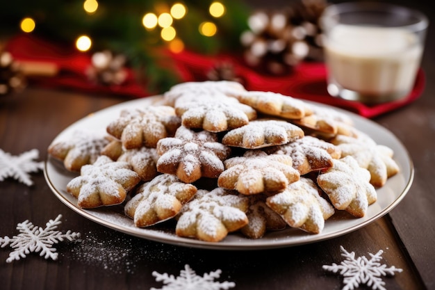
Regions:
M 67 127 L 54 141 L 65 140 L 65 138 L 71 136 L 76 130 L 84 129 L 105 132 L 108 123 L 114 120 L 122 109 L 147 106 L 153 102 L 158 102 L 158 100 L 158 97 L 147 97 L 117 104 L 98 111 L 97 113 L 92 113 L 88 115 L 88 117 L 74 122 L 74 124 Z M 334 109 L 338 110 L 337 108 Z M 388 131 L 371 120 L 361 118 L 354 113 L 347 111 L 342 112 L 349 115 L 350 118 L 354 120 L 356 128 L 366 132 L 366 134 L 371 136 L 378 144 L 386 145 L 394 150 L 394 159 L 400 167 L 400 172 L 388 179 L 386 185 L 377 190 L 378 200 L 375 204 L 368 207 L 366 216 L 363 218 L 353 218 L 348 214 L 336 213 L 332 218 L 326 221 L 325 228 L 320 234 L 308 234 L 300 229 L 288 228 L 283 231 L 268 232 L 261 239 L 247 239 L 241 234 L 232 233 L 229 234 L 224 241 L 220 241 L 219 243 L 181 238 L 174 234 L 172 227 L 165 227 L 165 225 L 162 224 L 147 229 L 135 227 L 133 221 L 124 216 L 122 205 L 98 209 L 79 208 L 76 198 L 69 195 L 66 191 L 67 183 L 76 175 L 65 170 L 63 163 L 56 159 L 51 157 L 47 159 L 44 176 L 56 197 L 77 213 L 96 223 L 110 227 L 111 229 L 133 236 L 139 236 L 143 239 L 193 248 L 217 250 L 258 250 L 313 243 L 347 234 L 384 216 L 404 198 L 413 180 L 414 169 L 410 156 L 400 140 L 398 140 L 391 131 Z

